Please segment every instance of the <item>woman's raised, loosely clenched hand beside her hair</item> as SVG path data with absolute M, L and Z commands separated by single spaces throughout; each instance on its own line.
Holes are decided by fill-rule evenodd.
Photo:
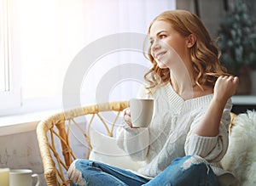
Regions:
M 219 76 L 214 86 L 214 98 L 227 101 L 236 93 L 239 78 L 237 76 Z

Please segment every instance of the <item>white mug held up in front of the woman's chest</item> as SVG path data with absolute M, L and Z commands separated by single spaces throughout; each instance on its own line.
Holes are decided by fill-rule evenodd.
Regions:
M 148 127 L 154 110 L 154 99 L 130 99 L 133 127 Z

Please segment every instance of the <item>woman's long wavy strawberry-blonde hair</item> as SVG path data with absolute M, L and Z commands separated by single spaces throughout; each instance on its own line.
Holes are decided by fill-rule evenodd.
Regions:
M 218 76 L 227 74 L 226 69 L 219 62 L 220 51 L 215 45 L 216 41 L 212 40 L 207 28 L 195 14 L 186 10 L 163 12 L 149 25 L 148 34 L 150 34 L 150 28 L 156 20 L 163 20 L 172 24 L 172 28 L 183 37 L 188 37 L 190 34 L 195 35 L 196 42 L 190 49 L 190 56 L 195 70 L 195 84 L 202 90 L 202 85 L 213 86 Z M 158 67 L 150 53 L 150 48 L 146 56 L 153 65 L 144 75 L 145 81 L 149 82 L 148 88 L 157 87 L 163 82 L 170 82 L 170 70 Z

